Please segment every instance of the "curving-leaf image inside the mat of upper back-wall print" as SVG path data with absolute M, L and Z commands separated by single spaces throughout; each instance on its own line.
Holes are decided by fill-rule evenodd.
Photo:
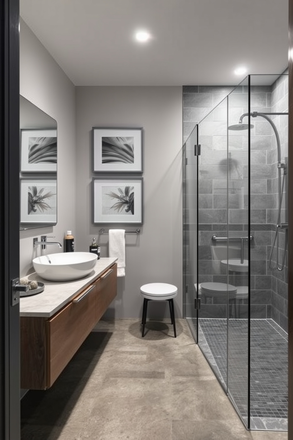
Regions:
M 102 137 L 102 163 L 134 163 L 134 138 Z

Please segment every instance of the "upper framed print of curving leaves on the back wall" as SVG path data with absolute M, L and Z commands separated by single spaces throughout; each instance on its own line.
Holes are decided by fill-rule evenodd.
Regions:
M 93 128 L 94 171 L 142 172 L 142 128 Z

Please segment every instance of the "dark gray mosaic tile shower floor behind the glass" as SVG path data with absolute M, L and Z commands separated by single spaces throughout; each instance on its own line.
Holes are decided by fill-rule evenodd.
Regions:
M 251 319 L 250 414 L 252 429 L 287 429 L 288 335 L 272 319 Z M 248 414 L 248 322 L 230 319 L 228 387 L 241 416 Z M 199 345 L 227 383 L 227 321 L 199 319 Z

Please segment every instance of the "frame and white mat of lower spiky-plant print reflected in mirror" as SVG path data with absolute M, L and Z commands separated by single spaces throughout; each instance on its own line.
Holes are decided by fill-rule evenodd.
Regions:
M 45 200 L 52 209 L 50 213 L 28 213 L 29 187 L 45 187 L 46 192 L 51 191 L 55 195 Z M 21 223 L 56 223 L 57 222 L 57 180 L 55 179 L 21 179 L 20 182 L 20 221 Z

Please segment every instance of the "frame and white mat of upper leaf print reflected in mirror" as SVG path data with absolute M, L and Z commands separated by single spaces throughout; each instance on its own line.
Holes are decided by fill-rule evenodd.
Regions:
M 29 138 L 31 137 L 56 137 L 57 130 L 22 130 L 21 131 L 21 171 L 57 171 L 57 164 L 29 163 Z

